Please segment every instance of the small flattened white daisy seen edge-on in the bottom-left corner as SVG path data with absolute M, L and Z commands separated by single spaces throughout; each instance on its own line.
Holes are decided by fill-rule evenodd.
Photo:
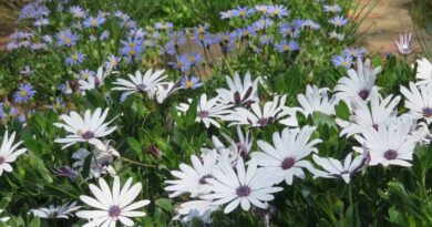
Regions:
M 34 216 L 38 216 L 40 218 L 65 218 L 68 219 L 69 216 L 73 216 L 73 211 L 76 211 L 80 209 L 79 206 L 76 206 L 76 202 L 73 202 L 71 204 L 65 203 L 61 206 L 53 206 L 50 205 L 49 207 L 40 207 L 37 209 L 30 209 L 30 213 L 33 213 Z

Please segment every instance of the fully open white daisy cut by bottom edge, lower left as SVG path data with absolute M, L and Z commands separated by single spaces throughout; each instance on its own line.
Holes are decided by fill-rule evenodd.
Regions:
M 147 204 L 150 200 L 134 202 L 138 196 L 142 185 L 137 183 L 133 186 L 132 177 L 126 180 L 124 186 L 120 188 L 120 178 L 114 177 L 113 188 L 110 189 L 105 179 L 99 178 L 99 187 L 94 184 L 90 184 L 90 190 L 95 196 L 82 195 L 80 199 L 86 205 L 94 207 L 95 210 L 81 210 L 76 213 L 78 217 L 89 219 L 89 223 L 83 227 L 91 226 L 110 226 L 115 227 L 117 220 L 125 226 L 134 226 L 134 221 L 130 217 L 144 217 L 144 211 L 137 211 Z

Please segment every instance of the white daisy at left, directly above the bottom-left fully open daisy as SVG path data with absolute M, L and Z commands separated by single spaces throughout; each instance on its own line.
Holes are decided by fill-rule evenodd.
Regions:
M 109 109 L 106 109 L 103 113 L 101 109 L 96 109 L 92 114 L 90 110 L 86 110 L 84 118 L 74 111 L 72 111 L 70 115 L 62 114 L 60 118 L 63 120 L 65 124 L 54 123 L 54 125 L 63 127 L 71 134 L 66 135 L 65 138 L 56 138 L 54 142 L 65 144 L 62 149 L 78 142 L 89 142 L 90 144 L 99 147 L 104 146 L 99 137 L 110 135 L 116 128 L 116 126 L 109 127 L 109 124 L 113 122 L 114 118 L 104 123 L 107 112 Z

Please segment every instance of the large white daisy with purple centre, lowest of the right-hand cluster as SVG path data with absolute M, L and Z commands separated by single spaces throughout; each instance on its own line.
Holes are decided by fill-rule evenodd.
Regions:
M 403 121 L 388 126 L 380 125 L 377 130 L 364 128 L 361 136 L 354 137 L 370 152 L 369 165 L 383 166 L 411 166 L 409 161 L 412 161 L 415 144 L 419 142 L 419 138 L 411 134 L 411 125 Z M 359 153 L 364 152 L 362 147 L 353 147 L 353 149 Z

